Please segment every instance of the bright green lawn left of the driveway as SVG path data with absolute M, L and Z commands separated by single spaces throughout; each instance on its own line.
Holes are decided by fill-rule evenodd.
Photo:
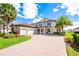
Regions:
M 2 37 L 0 37 L 0 49 L 15 45 L 15 44 L 23 42 L 23 41 L 27 41 L 29 39 L 30 39 L 30 37 L 28 37 L 28 36 L 6 38 L 6 39 L 3 39 Z

